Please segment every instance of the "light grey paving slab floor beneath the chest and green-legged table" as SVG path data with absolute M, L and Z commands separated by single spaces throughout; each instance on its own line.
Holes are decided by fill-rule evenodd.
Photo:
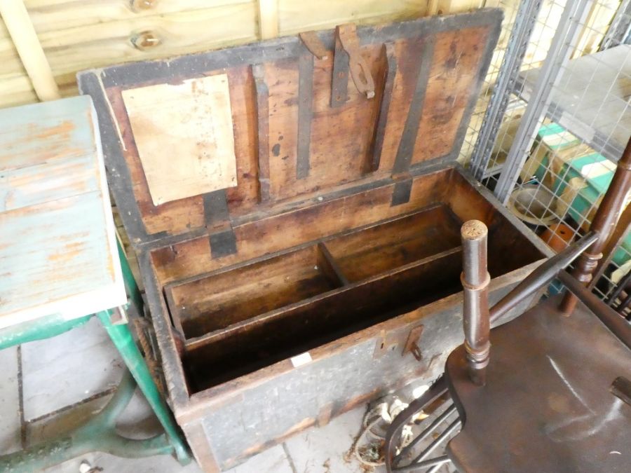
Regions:
M 123 363 L 96 318 L 66 334 L 0 350 L 0 452 L 10 453 L 55 438 L 99 411 L 123 374 Z M 440 368 L 437 366 L 437 368 Z M 437 374 L 437 373 L 436 373 Z M 358 435 L 365 406 L 311 428 L 275 446 L 230 473 L 382 473 L 347 455 Z M 161 432 L 140 392 L 121 416 L 118 430 L 134 438 Z M 168 456 L 128 460 L 90 453 L 46 469 L 78 473 L 87 460 L 96 471 L 113 473 L 198 473 Z

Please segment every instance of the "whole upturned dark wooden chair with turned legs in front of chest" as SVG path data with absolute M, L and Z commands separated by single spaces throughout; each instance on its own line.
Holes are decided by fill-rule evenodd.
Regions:
M 602 249 L 615 248 L 607 245 L 612 233 L 625 233 L 614 229 L 631 188 L 630 164 L 631 140 L 591 233 L 537 268 L 490 311 L 482 283 L 484 224 L 464 224 L 465 343 L 449 355 L 444 378 L 391 425 L 389 472 L 436 471 L 447 461 L 461 472 L 628 471 L 631 324 L 585 286 Z M 626 217 L 621 223 L 628 224 Z M 563 268 L 578 254 L 569 275 Z M 564 296 L 489 331 L 503 310 L 555 275 L 568 289 Z M 462 426 L 449 441 L 447 455 L 428 458 L 426 448 L 414 457 L 410 447 L 395 455 L 402 425 L 447 391 Z M 411 461 L 402 467 L 405 458 Z

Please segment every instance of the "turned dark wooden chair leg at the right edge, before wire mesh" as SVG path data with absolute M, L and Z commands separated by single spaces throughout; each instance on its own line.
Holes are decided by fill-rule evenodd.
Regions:
M 622 158 L 618 161 L 616 174 L 613 174 L 609 190 L 602 198 L 598 210 L 592 221 L 591 229 L 598 234 L 598 239 L 581 255 L 576 263 L 572 275 L 583 285 L 588 285 L 592 280 L 592 273 L 602 258 L 602 251 L 616 228 L 616 223 L 622 212 L 625 198 L 631 186 L 631 139 Z M 566 292 L 561 301 L 560 310 L 564 315 L 570 315 L 576 307 L 576 296 Z

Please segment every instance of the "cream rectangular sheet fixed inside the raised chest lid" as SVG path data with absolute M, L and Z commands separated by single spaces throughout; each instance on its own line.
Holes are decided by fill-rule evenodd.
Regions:
M 235 187 L 227 74 L 123 90 L 154 205 Z

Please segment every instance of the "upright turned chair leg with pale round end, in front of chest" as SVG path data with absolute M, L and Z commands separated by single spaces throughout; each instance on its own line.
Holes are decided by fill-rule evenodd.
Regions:
M 467 221 L 461 228 L 464 289 L 463 324 L 469 377 L 483 386 L 489 364 L 489 282 L 487 271 L 487 226 L 479 220 Z

